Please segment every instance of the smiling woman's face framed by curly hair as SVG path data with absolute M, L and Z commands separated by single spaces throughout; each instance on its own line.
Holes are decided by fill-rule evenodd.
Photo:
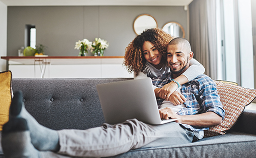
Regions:
M 162 55 L 160 52 L 154 47 L 154 45 L 145 41 L 142 46 L 142 53 L 146 59 L 146 61 L 152 64 L 155 68 L 160 69 L 162 66 L 160 65 Z

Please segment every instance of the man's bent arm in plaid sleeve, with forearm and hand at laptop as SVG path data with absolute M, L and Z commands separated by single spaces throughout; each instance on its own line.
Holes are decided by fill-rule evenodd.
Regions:
M 197 84 L 192 84 L 194 86 L 192 86 L 191 89 L 196 89 L 198 85 L 201 85 L 198 94 L 199 100 L 196 101 L 201 104 L 201 113 L 194 115 L 178 115 L 170 108 L 165 108 L 160 110 L 160 114 L 162 114 L 161 118 L 180 118 L 180 120 L 176 122 L 198 127 L 210 127 L 221 123 L 225 111 L 220 102 L 216 84 L 208 76 L 199 77 L 195 83 Z M 188 96 L 191 94 L 187 93 L 186 95 Z M 194 104 L 196 104 L 196 102 L 194 101 Z

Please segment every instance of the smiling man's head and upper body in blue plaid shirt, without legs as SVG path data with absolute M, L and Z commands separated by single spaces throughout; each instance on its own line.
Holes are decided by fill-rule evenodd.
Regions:
M 191 51 L 191 46 L 187 39 L 174 38 L 167 48 L 167 61 L 171 72 L 153 78 L 153 84 L 160 88 L 163 87 L 162 89 L 168 88 L 164 85 L 171 81 L 175 82 L 174 79 L 189 67 L 189 61 L 192 58 L 193 52 Z M 178 88 L 181 88 L 179 90 L 183 95 L 180 91 L 175 91 L 169 98 L 169 101 L 176 104 L 172 105 L 170 102 L 168 103 L 163 100 L 167 95 L 164 90 L 160 93 L 156 93 L 156 97 L 161 97 L 157 99 L 157 103 L 161 105 L 161 118 L 180 118 L 180 120 L 176 122 L 194 131 L 195 136 L 198 139 L 202 139 L 203 130 L 200 129 L 200 127 L 209 127 L 212 126 L 212 124 L 219 124 L 222 121 L 222 118 L 216 115 L 216 113 L 218 113 L 216 110 L 222 110 L 219 111 L 219 114 L 224 114 L 222 106 L 219 105 L 219 96 L 216 93 L 215 83 L 210 77 L 200 75 L 191 82 L 184 84 L 182 87 L 180 87 L 178 83 L 177 85 L 179 86 Z M 159 91 L 159 89 L 155 89 L 155 92 L 157 91 Z M 183 108 L 178 107 L 179 110 L 174 111 L 177 109 L 177 105 L 181 107 L 183 103 Z M 215 103 L 218 104 L 213 106 Z M 207 109 L 203 111 L 204 113 L 201 111 L 201 106 Z M 208 128 L 203 129 L 207 130 Z

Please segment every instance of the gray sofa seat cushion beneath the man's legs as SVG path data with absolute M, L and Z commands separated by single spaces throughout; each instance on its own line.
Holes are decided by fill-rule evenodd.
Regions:
M 234 132 L 189 144 L 142 147 L 112 157 L 255 157 L 255 145 L 256 135 Z

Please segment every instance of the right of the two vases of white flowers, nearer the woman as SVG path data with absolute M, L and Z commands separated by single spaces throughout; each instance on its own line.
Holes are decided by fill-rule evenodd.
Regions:
M 93 41 L 91 46 L 92 46 L 91 52 L 92 54 L 94 54 L 94 56 L 97 56 L 97 55 L 103 56 L 104 50 L 108 48 L 109 44 L 104 39 L 95 38 L 95 41 Z

